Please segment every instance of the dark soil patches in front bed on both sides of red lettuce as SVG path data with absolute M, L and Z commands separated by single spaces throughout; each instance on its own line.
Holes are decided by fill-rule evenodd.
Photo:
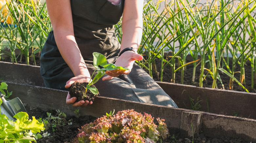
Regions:
M 47 118 L 47 112 L 42 111 L 40 108 L 34 108 L 34 107 L 28 107 L 25 105 L 25 108 L 29 114 L 30 117 L 34 116 L 36 119 L 42 118 L 45 119 Z M 52 115 L 58 116 L 58 112 L 51 110 L 48 111 L 49 113 L 51 112 Z M 53 128 L 48 128 L 47 130 L 44 130 L 44 133 L 50 134 L 49 136 L 44 136 L 40 139 L 37 139 L 37 143 L 68 143 L 72 139 L 75 138 L 75 136 L 78 134 L 78 129 L 81 129 L 81 127 L 84 124 L 93 122 L 96 119 L 96 117 L 93 116 L 80 116 L 76 117 L 74 116 L 67 116 L 67 118 L 62 118 L 64 124 L 62 125 L 56 125 L 54 127 L 54 132 Z M 72 122 L 70 125 L 69 123 Z M 181 138 L 180 133 L 173 132 L 173 129 L 169 128 L 169 131 L 172 131 L 170 135 L 163 140 L 162 143 L 249 143 L 246 142 L 240 138 L 229 138 L 229 137 L 220 137 L 220 138 L 210 138 L 207 136 L 203 135 L 203 132 L 200 134 L 199 137 L 197 138 Z M 43 134 L 41 132 L 41 134 Z

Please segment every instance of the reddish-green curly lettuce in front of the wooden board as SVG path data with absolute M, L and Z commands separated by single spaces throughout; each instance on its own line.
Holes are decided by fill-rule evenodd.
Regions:
M 164 119 L 123 110 L 85 124 L 70 143 L 156 143 L 169 135 Z

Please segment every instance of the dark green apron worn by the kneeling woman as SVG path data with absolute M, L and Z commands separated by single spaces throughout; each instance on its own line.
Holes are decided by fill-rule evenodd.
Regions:
M 119 5 L 107 0 L 71 0 L 75 40 L 91 74 L 95 70 L 92 65 L 93 52 L 106 56 L 109 63 L 117 59 L 120 44 L 114 25 L 121 19 L 123 7 L 124 0 Z M 66 82 L 74 74 L 59 53 L 53 31 L 49 33 L 42 49 L 40 65 L 46 87 L 68 90 L 65 88 Z M 134 64 L 128 75 L 107 81 L 99 80 L 95 86 L 100 96 L 177 107 L 137 64 Z

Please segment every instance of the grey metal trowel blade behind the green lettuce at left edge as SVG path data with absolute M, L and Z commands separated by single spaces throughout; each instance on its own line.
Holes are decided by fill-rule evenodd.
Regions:
M 19 112 L 27 112 L 18 97 L 7 101 L 4 98 L 4 94 L 0 92 L 0 95 L 3 101 L 3 103 L 0 105 L 1 114 L 5 114 L 9 119 L 15 121 L 16 119 L 13 117 L 15 114 Z

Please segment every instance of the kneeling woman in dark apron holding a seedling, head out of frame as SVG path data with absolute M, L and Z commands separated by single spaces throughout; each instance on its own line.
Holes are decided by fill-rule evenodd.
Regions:
M 134 64 L 135 60 L 142 60 L 136 51 L 142 35 L 143 0 L 46 0 L 46 4 L 53 26 L 40 58 L 46 87 L 68 90 L 74 82 L 89 82 L 94 71 L 92 53 L 98 52 L 109 63 L 132 69 L 106 71 L 107 75 L 95 84 L 101 96 L 177 107 Z M 121 17 L 120 45 L 114 25 Z M 68 94 L 66 103 L 74 107 L 92 104 L 75 100 Z

